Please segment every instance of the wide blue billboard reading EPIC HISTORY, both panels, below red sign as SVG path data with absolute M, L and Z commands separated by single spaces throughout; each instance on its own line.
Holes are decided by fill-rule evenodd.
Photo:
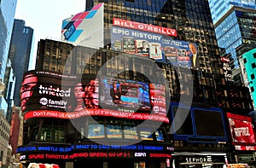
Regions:
M 143 29 L 142 29 L 143 30 Z M 120 26 L 111 27 L 111 49 L 181 67 L 200 68 L 195 43 Z

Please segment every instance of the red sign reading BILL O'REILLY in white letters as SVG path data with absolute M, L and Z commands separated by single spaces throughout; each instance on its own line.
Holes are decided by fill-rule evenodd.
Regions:
M 130 20 L 120 20 L 117 18 L 113 18 L 113 26 L 122 26 L 122 27 L 136 29 L 144 32 L 154 32 L 154 33 L 177 37 L 177 31 L 175 29 L 148 25 L 148 24 L 139 23 L 139 22 L 130 21 Z

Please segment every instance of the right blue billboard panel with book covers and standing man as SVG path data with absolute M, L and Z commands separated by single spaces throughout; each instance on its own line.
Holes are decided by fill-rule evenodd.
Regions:
M 197 46 L 172 38 L 163 38 L 163 52 L 167 61 L 171 61 L 174 66 L 199 67 L 197 58 Z

